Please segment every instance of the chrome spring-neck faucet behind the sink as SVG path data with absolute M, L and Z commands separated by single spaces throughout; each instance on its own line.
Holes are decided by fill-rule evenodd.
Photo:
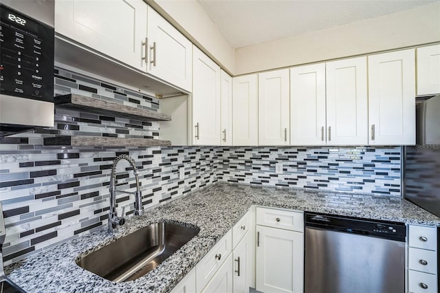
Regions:
M 136 179 L 136 191 L 118 191 L 116 189 L 116 165 L 120 160 L 126 160 L 130 163 L 131 168 L 133 168 L 133 173 Z M 144 207 L 142 206 L 142 192 L 139 188 L 139 171 L 137 171 L 135 161 L 129 155 L 119 155 L 113 161 L 113 166 L 111 167 L 111 177 L 110 177 L 110 210 L 109 210 L 109 231 L 112 232 L 117 226 L 122 226 L 125 224 L 124 217 L 118 217 L 118 212 L 116 212 L 116 193 L 128 193 L 135 195 L 135 211 L 134 215 L 142 216 L 144 215 Z M 122 216 L 124 215 L 125 208 L 122 209 Z

